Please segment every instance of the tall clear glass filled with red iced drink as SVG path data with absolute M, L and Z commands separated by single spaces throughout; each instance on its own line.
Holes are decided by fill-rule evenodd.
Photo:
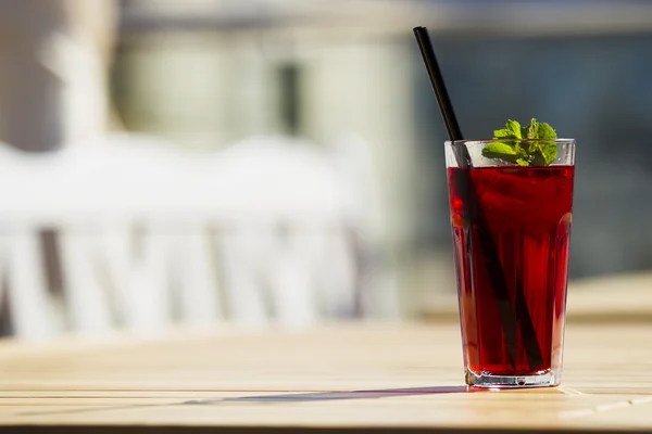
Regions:
M 554 140 L 549 166 L 486 158 L 493 141 L 446 142 L 466 383 L 557 385 L 575 140 Z

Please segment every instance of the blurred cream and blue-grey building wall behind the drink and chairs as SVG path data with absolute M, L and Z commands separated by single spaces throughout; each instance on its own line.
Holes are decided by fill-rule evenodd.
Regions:
M 578 140 L 572 277 L 652 267 L 649 3 L 174 3 L 123 2 L 127 125 L 196 148 L 261 131 L 361 135 L 409 310 L 454 288 L 446 133 L 414 25 L 430 28 L 466 137 L 539 117 Z

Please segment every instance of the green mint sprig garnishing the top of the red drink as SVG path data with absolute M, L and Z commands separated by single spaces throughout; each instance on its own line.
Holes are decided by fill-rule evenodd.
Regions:
M 494 139 L 482 149 L 487 158 L 501 159 L 519 166 L 548 166 L 556 158 L 556 143 L 541 139 L 556 139 L 555 130 L 546 123 L 531 119 L 522 127 L 516 120 L 509 119 L 503 129 L 493 131 Z M 538 141 L 524 141 L 538 139 Z

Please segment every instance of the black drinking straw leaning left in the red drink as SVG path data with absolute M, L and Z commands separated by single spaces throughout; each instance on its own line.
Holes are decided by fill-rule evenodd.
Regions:
M 425 27 L 415 27 L 414 36 L 416 37 L 416 42 L 418 43 L 422 56 L 424 58 L 424 63 L 426 64 L 426 69 L 428 72 L 428 76 L 430 77 L 430 84 L 432 85 L 435 95 L 437 97 L 437 102 L 439 104 L 441 116 L 443 117 L 443 123 L 446 124 L 448 136 L 451 141 L 463 140 L 462 130 L 457 124 L 457 117 L 455 116 L 443 77 L 441 76 L 441 71 L 439 69 L 439 64 L 437 63 L 437 56 L 435 55 L 435 50 L 432 49 L 428 30 Z M 471 156 L 466 146 L 463 144 L 455 145 L 453 146 L 453 150 L 455 152 L 457 166 L 469 167 Z M 463 201 L 469 204 L 468 209 L 465 209 L 465 213 L 468 213 L 465 217 L 472 218 L 464 218 L 464 220 L 475 221 L 476 224 L 475 229 L 480 243 L 480 250 L 482 251 L 485 267 L 489 275 L 489 280 L 491 281 L 491 288 L 493 289 L 493 296 L 498 305 L 498 311 L 505 334 L 505 343 L 512 367 L 516 367 L 516 332 L 518 324 L 521 324 L 521 333 L 523 336 L 528 365 L 530 366 L 530 369 L 540 368 L 543 365 L 543 358 L 541 356 L 539 342 L 537 341 L 537 333 L 532 324 L 532 319 L 527 304 L 525 303 L 523 284 L 516 285 L 516 305 L 513 305 L 510 299 L 507 281 L 503 273 L 498 248 L 493 238 L 487 230 L 487 224 L 481 209 L 478 206 L 477 197 L 468 177 L 468 171 L 456 170 L 454 182 L 457 192 L 465 196 L 463 197 Z

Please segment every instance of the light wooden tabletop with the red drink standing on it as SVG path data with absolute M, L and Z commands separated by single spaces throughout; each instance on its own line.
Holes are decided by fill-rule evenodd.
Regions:
M 455 322 L 5 342 L 0 432 L 652 430 L 651 337 L 572 323 L 563 386 L 515 392 L 463 386 Z

